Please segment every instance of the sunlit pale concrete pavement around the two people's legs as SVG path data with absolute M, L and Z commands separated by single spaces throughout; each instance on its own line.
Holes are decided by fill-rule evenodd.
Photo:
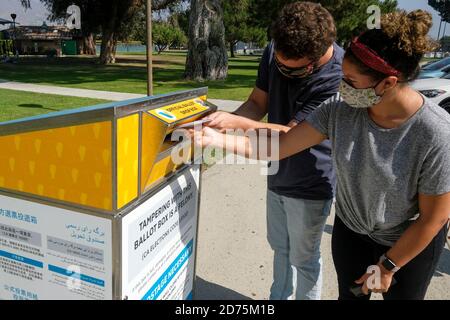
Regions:
M 272 252 L 266 240 L 266 178 L 259 165 L 215 165 L 202 179 L 196 299 L 267 299 Z M 333 217 L 322 239 L 323 299 L 336 299 Z M 374 295 L 380 299 L 380 295 Z M 450 250 L 444 249 L 427 299 L 450 300 Z

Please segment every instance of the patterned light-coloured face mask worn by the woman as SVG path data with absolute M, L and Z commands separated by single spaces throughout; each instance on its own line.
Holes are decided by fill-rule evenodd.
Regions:
M 339 93 L 342 99 L 353 108 L 370 108 L 380 103 L 382 99 L 382 96 L 378 96 L 375 93 L 375 89 L 378 87 L 381 81 L 378 82 L 374 87 L 357 89 L 347 80 L 343 79 L 339 88 Z

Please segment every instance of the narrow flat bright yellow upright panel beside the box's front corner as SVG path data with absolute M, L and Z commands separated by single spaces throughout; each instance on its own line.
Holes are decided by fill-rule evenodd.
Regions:
M 117 208 L 138 196 L 139 114 L 117 120 Z

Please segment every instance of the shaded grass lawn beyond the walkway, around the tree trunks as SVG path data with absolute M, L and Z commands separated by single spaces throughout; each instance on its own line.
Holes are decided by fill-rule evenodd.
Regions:
M 224 81 L 183 79 L 186 55 L 168 52 L 154 56 L 155 94 L 209 87 L 209 97 L 245 100 L 255 85 L 259 57 L 232 58 Z M 115 65 L 102 66 L 92 57 L 59 59 L 21 58 L 18 64 L 0 64 L 0 79 L 55 86 L 146 93 L 145 55 L 118 55 Z

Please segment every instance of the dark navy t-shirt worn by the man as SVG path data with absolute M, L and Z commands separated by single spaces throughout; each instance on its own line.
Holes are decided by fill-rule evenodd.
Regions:
M 256 86 L 268 93 L 269 123 L 302 122 L 322 102 L 339 91 L 344 50 L 334 44 L 331 60 L 305 79 L 283 76 L 273 59 L 272 45 L 264 51 Z M 301 137 L 299 137 L 301 139 Z M 331 143 L 324 141 L 279 163 L 276 175 L 268 177 L 269 190 L 291 198 L 326 200 L 334 197 L 336 177 Z

